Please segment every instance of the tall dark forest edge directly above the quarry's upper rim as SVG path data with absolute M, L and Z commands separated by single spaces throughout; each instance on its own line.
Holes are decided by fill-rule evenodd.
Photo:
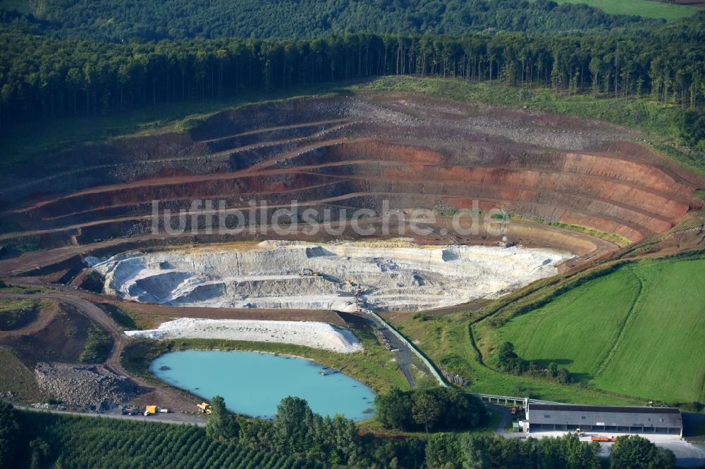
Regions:
M 693 112 L 705 96 L 705 13 L 633 34 L 358 33 L 124 44 L 51 39 L 12 24 L 0 32 L 2 129 L 27 120 L 384 74 L 546 86 L 566 94 L 648 95 Z

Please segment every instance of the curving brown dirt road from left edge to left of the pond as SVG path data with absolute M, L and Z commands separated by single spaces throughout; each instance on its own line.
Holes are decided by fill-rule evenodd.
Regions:
M 108 358 L 106 359 L 104 365 L 110 368 L 118 375 L 123 375 L 129 377 L 130 380 L 135 382 L 138 386 L 145 389 L 145 393 L 137 396 L 136 400 L 142 403 L 152 403 L 154 405 L 163 406 L 174 411 L 188 411 L 192 412 L 195 409 L 195 401 L 188 399 L 182 394 L 176 392 L 174 389 L 168 387 L 155 387 L 151 383 L 142 380 L 140 377 L 135 377 L 130 375 L 125 368 L 123 368 L 122 363 L 120 363 L 120 356 L 125 344 L 128 342 L 128 337 L 125 336 L 122 330 L 109 318 L 106 313 L 90 301 L 82 299 L 78 296 L 73 296 L 68 293 L 42 293 L 42 294 L 0 294 L 2 299 L 31 299 L 31 298 L 44 298 L 44 299 L 54 299 L 61 301 L 63 303 L 71 304 L 75 308 L 93 320 L 97 325 L 99 325 L 103 330 L 108 332 L 113 340 L 113 348 L 110 351 Z

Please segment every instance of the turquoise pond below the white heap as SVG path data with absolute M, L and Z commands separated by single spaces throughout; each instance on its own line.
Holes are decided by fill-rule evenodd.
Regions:
M 250 351 L 176 351 L 149 365 L 159 379 L 192 394 L 223 396 L 236 413 L 271 418 L 281 399 L 297 396 L 321 415 L 372 417 L 372 390 L 343 373 L 321 375 L 324 369 L 305 358 Z

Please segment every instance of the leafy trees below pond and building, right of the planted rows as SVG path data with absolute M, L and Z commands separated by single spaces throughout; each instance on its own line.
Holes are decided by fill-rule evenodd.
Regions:
M 439 389 L 439 388 L 434 388 Z M 400 397 L 394 392 L 388 405 L 399 411 Z M 413 393 L 406 393 L 412 399 Z M 430 394 L 419 393 L 418 396 Z M 443 396 L 436 396 L 441 401 Z M 389 396 L 389 394 L 388 394 Z M 457 396 L 456 396 L 457 399 Z M 380 406 L 377 404 L 377 418 Z M 355 423 L 343 417 L 323 418 L 312 413 L 306 401 L 288 397 L 278 406 L 274 422 L 245 420 L 228 414 L 221 398 L 213 401 L 207 434 L 216 439 L 247 444 L 258 449 L 306 456 L 321 463 L 364 468 L 465 468 L 465 469 L 599 469 L 600 446 L 580 442 L 575 434 L 560 438 L 504 439 L 468 432 L 434 433 L 393 440 L 358 434 Z M 387 409 L 389 411 L 389 409 Z M 406 409 L 406 411 L 409 411 Z M 463 413 L 448 408 L 449 413 Z M 411 411 L 413 413 L 413 411 Z M 402 418 L 400 415 L 396 418 Z M 472 415 L 458 415 L 471 418 Z M 457 428 L 457 427 L 456 427 Z M 675 468 L 672 451 L 657 448 L 649 440 L 625 436 L 615 443 L 610 467 L 620 469 Z

